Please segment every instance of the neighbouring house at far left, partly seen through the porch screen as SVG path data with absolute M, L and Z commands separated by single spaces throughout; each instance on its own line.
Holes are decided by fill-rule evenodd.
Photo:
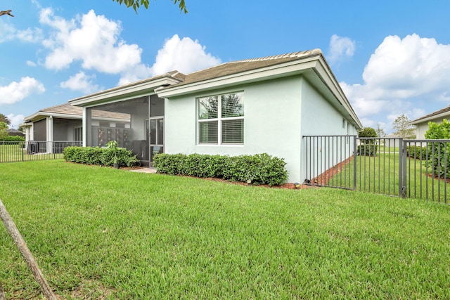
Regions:
M 69 103 L 44 108 L 39 112 L 25 117 L 24 123 L 20 124 L 25 128 L 25 141 L 39 142 L 82 142 L 82 107 L 72 106 Z M 105 131 L 105 139 L 99 141 L 97 145 L 105 146 L 106 138 L 121 141 L 121 146 L 125 146 L 123 132 L 129 128 L 130 116 L 121 112 L 93 112 L 93 124 L 101 127 Z

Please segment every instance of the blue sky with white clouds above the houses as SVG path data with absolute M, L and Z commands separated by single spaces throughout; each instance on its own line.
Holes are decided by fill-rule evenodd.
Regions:
M 364 126 L 450 104 L 450 1 L 3 0 L 0 112 L 23 117 L 170 70 L 321 48 Z

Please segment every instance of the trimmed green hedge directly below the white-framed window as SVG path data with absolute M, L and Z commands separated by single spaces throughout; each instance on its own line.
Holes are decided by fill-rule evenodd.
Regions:
M 255 185 L 281 185 L 288 179 L 284 159 L 266 153 L 235 157 L 161 153 L 155 155 L 153 166 L 162 174 L 223 178 Z

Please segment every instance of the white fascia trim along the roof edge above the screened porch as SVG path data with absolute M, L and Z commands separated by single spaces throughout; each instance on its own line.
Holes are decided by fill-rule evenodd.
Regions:
M 91 95 L 69 100 L 70 105 L 75 106 L 96 106 L 103 103 L 113 103 L 119 100 L 128 100 L 141 96 L 148 96 L 155 93 L 155 89 L 160 86 L 177 84 L 179 81 L 172 78 L 161 78 L 153 81 L 138 82 L 127 86 L 108 89 Z

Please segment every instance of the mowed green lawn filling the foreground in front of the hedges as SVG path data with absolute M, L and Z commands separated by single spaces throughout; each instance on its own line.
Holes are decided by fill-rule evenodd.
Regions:
M 61 299 L 450 299 L 450 207 L 310 188 L 0 164 L 0 198 Z M 40 299 L 0 229 L 8 299 Z

